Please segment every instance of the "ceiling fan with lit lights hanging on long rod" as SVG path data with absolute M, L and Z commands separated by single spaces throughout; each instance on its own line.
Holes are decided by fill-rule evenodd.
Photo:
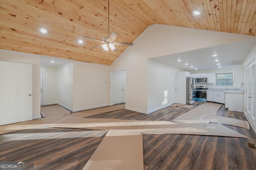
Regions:
M 104 50 L 108 51 L 108 49 L 110 48 L 112 51 L 118 51 L 118 49 L 114 46 L 114 45 L 128 45 L 128 46 L 132 46 L 133 43 L 128 43 L 128 42 L 114 42 L 114 40 L 116 39 L 116 37 L 118 36 L 118 33 L 116 32 L 111 32 L 111 34 L 109 34 L 109 0 L 108 0 L 108 37 L 104 37 L 103 41 L 101 40 L 97 40 L 94 38 L 90 38 L 90 37 L 84 37 L 90 40 L 94 40 L 97 42 L 101 42 L 104 43 L 103 45 L 97 45 L 93 48 L 98 48 L 98 47 L 103 47 Z

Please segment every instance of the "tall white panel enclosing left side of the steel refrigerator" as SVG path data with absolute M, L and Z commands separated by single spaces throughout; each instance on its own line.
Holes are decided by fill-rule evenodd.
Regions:
M 176 103 L 186 105 L 186 77 L 189 77 L 190 72 L 176 72 Z

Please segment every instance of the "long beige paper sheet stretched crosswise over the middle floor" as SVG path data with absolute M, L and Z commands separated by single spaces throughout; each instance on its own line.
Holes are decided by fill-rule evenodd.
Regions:
M 248 138 L 217 123 L 202 123 L 204 128 L 174 121 L 128 121 L 100 118 L 65 118 L 49 127 L 93 130 L 136 130 L 151 134 L 198 134 Z

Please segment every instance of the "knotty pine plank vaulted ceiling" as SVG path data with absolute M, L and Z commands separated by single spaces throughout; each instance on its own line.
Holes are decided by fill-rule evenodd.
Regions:
M 118 33 L 115 42 L 133 42 L 152 24 L 254 36 L 255 12 L 256 0 L 110 0 L 110 32 Z M 0 34 L 0 49 L 103 65 L 127 47 L 108 55 L 91 49 L 100 42 L 82 38 L 108 36 L 108 0 L 0 0 Z

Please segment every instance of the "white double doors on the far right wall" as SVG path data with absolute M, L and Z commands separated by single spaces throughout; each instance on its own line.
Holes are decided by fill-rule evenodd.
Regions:
M 246 66 L 246 116 L 256 127 L 255 122 L 255 60 Z

